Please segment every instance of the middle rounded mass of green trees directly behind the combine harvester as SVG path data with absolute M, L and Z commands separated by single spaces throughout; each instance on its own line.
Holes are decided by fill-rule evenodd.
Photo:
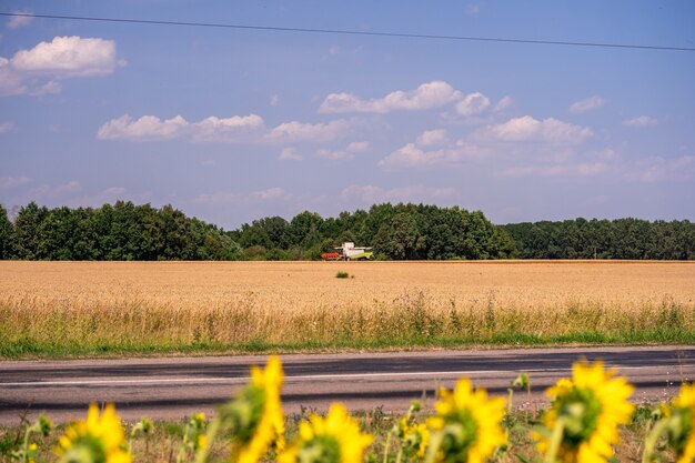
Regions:
M 373 246 L 377 259 L 511 259 L 516 248 L 504 229 L 480 211 L 424 204 L 375 204 L 369 211 L 323 219 L 302 212 L 243 224 L 231 233 L 250 259 L 315 260 L 350 241 Z

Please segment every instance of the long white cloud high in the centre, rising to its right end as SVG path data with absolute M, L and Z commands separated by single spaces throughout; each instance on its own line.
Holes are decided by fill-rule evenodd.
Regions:
M 399 110 L 426 110 L 439 108 L 460 100 L 461 92 L 444 81 L 426 82 L 417 89 L 405 92 L 394 91 L 379 99 L 362 100 L 352 93 L 331 93 L 321 107 L 320 113 L 373 112 L 386 113 Z

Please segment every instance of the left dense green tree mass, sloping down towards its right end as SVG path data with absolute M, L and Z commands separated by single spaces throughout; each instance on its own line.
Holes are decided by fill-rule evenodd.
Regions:
M 238 260 L 242 249 L 215 225 L 164 205 L 118 201 L 99 209 L 36 202 L 10 222 L 0 205 L 0 258 L 22 260 Z

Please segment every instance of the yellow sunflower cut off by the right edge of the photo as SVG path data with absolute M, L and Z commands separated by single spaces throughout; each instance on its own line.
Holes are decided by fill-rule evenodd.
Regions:
M 666 435 L 676 463 L 695 462 L 695 384 L 683 384 L 668 409 Z

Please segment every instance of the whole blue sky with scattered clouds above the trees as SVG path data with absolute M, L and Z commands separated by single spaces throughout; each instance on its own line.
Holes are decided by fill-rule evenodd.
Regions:
M 3 12 L 695 48 L 692 1 L 3 1 Z M 225 229 L 376 202 L 695 220 L 695 52 L 0 18 L 0 203 Z

